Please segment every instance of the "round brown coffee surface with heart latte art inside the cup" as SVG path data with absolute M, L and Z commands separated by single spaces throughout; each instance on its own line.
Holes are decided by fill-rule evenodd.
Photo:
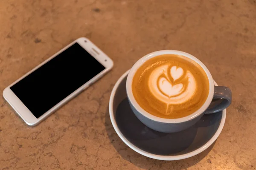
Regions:
M 132 91 L 145 111 L 172 119 L 198 110 L 209 94 L 209 82 L 192 59 L 167 54 L 149 59 L 137 70 Z

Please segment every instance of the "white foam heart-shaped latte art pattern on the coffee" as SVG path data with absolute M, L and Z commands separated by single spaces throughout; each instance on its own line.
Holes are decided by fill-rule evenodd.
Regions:
M 150 74 L 148 87 L 151 94 L 161 102 L 177 105 L 191 99 L 196 91 L 196 82 L 190 71 L 185 72 L 175 65 L 160 65 Z

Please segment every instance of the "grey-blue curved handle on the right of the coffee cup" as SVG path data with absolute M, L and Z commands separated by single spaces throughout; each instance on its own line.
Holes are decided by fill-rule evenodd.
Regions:
M 209 108 L 205 111 L 205 114 L 216 113 L 227 108 L 232 101 L 231 90 L 224 86 L 215 86 L 212 103 Z M 214 102 L 218 103 L 214 105 Z M 212 105 L 213 104 L 213 105 Z

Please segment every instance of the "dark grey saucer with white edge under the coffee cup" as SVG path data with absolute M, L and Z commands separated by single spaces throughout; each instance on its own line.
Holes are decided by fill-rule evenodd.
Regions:
M 112 90 L 109 114 L 116 133 L 131 149 L 149 158 L 172 161 L 195 156 L 215 142 L 225 124 L 226 109 L 204 115 L 195 125 L 181 132 L 157 132 L 140 122 L 131 111 L 125 90 L 128 72 L 119 78 Z

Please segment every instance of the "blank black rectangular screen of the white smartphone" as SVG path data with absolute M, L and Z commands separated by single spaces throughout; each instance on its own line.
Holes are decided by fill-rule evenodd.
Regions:
M 104 69 L 75 43 L 17 82 L 11 90 L 38 118 Z

